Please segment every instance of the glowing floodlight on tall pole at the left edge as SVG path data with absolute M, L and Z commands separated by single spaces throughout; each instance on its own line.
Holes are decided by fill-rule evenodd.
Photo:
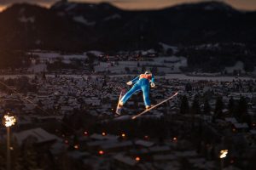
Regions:
M 9 113 L 5 116 L 3 116 L 3 123 L 4 123 L 4 126 L 6 127 L 7 129 L 7 165 L 6 165 L 6 168 L 7 170 L 10 170 L 10 152 L 9 152 L 9 149 L 10 149 L 10 139 L 9 139 L 9 133 L 10 133 L 10 127 L 15 125 L 15 122 L 16 122 L 16 119 L 15 119 L 15 116 L 9 116 Z

